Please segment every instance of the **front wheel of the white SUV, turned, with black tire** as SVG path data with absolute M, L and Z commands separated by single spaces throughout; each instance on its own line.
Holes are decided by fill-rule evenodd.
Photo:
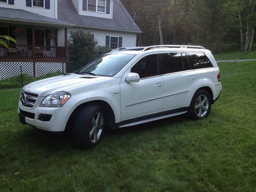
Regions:
M 95 147 L 106 128 L 106 115 L 101 105 L 83 106 L 77 113 L 73 125 L 73 142 L 81 148 Z

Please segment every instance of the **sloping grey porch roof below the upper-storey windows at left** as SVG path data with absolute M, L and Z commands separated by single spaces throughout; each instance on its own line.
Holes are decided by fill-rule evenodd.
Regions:
M 26 22 L 47 25 L 73 26 L 60 19 L 54 19 L 47 16 L 31 13 L 23 9 L 11 9 L 0 7 L 0 20 L 8 20 L 14 22 Z

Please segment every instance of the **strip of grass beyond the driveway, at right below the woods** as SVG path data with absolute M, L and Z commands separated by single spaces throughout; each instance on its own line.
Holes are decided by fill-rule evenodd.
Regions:
M 216 60 L 256 59 L 256 51 L 214 54 Z

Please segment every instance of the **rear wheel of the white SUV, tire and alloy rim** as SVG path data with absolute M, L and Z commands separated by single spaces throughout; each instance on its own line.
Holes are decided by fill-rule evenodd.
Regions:
M 189 116 L 192 119 L 203 119 L 210 113 L 211 97 L 206 90 L 198 90 L 190 103 Z

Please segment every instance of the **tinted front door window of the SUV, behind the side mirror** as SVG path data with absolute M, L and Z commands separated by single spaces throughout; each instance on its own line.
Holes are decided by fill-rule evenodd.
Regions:
M 131 69 L 132 73 L 138 73 L 140 78 L 159 75 L 157 54 L 147 55 L 140 59 Z

